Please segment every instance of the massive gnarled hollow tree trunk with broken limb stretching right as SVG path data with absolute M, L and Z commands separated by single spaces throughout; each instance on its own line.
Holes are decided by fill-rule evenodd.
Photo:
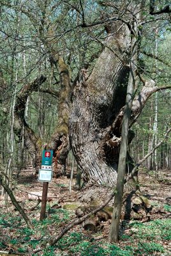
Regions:
M 121 21 L 114 22 L 111 32 L 93 72 L 74 88 L 69 118 L 70 144 L 84 180 L 107 187 L 115 186 L 117 179 L 131 37 L 127 24 Z M 143 82 L 133 100 L 130 128 L 152 93 L 166 88 L 159 88 L 152 79 Z M 133 137 L 129 131 L 128 143 Z M 127 162 L 130 161 L 128 154 Z M 131 168 L 130 164 L 130 171 Z

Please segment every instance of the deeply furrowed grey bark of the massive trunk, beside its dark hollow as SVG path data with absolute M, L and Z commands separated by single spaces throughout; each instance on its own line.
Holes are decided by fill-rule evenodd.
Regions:
M 116 182 L 118 159 L 107 163 L 106 134 L 124 106 L 128 68 L 123 52 L 130 46 L 128 27 L 115 22 L 113 29 L 91 76 L 75 86 L 69 120 L 70 143 L 84 180 L 107 186 Z

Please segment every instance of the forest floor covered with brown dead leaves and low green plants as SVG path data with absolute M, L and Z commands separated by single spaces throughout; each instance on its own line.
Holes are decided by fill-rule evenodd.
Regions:
M 75 196 L 77 191 L 68 191 L 70 179 L 52 179 L 48 186 L 47 218 L 40 221 L 41 204 L 29 200 L 29 193 L 42 193 L 42 183 L 38 182 L 31 169 L 23 170 L 19 179 L 13 183 L 17 200 L 24 207 L 33 223 L 33 230 L 27 228 L 19 212 L 11 204 L 0 200 L 0 256 L 2 252 L 15 255 L 75 255 L 75 256 L 133 256 L 133 255 L 171 255 L 171 193 L 170 172 L 162 170 L 159 179 L 154 173 L 139 173 L 142 194 L 149 198 L 155 211 L 142 220 L 121 222 L 119 243 L 107 242 L 111 220 L 103 223 L 98 232 L 84 230 L 82 225 L 73 227 L 54 246 L 48 241 L 70 223 L 75 216 Z M 73 180 L 73 184 L 75 180 Z M 60 199 L 61 208 L 57 209 Z M 32 209 L 31 209 L 32 208 Z M 34 209 L 33 209 L 34 208 Z M 36 252 L 36 250 L 39 250 Z

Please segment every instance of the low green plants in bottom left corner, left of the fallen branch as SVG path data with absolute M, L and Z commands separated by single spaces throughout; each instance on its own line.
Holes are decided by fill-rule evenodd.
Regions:
M 16 212 L 17 214 L 17 212 Z M 47 241 L 45 239 L 36 239 L 34 237 L 44 237 L 48 236 L 48 228 L 52 225 L 58 227 L 62 223 L 67 223 L 70 220 L 71 212 L 65 209 L 54 209 L 54 214 L 49 214 L 48 218 L 43 221 L 38 221 L 34 219 L 32 221 L 34 230 L 25 227 L 24 221 L 20 220 L 19 216 L 11 216 L 10 213 L 2 214 L 0 217 L 0 228 L 10 228 L 11 230 L 15 228 L 15 235 L 17 238 L 10 239 L 6 236 L 6 243 L 15 244 L 19 246 L 20 253 L 26 253 L 27 246 L 36 249 L 36 246 L 43 244 L 46 245 Z M 20 221 L 19 221 L 20 220 Z M 0 244 L 0 248 L 4 248 L 3 244 Z M 48 254 L 51 253 L 51 254 Z M 45 255 L 53 255 L 52 248 L 45 252 Z

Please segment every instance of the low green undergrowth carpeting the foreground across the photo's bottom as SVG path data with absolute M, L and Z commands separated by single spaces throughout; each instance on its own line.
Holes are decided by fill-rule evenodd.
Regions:
M 170 211 L 165 206 L 166 211 Z M 0 250 L 5 250 L 8 244 L 18 253 L 28 253 L 38 247 L 45 248 L 49 239 L 61 230 L 73 218 L 73 213 L 66 209 L 53 209 L 43 221 L 33 219 L 34 229 L 17 216 L 17 212 L 1 214 L 0 216 Z M 163 243 L 171 240 L 170 220 L 154 220 L 146 223 L 132 221 L 126 224 L 126 232 L 120 237 L 119 245 L 108 244 L 100 233 L 68 232 L 56 246 L 50 246 L 33 256 L 147 256 L 163 255 L 170 252 L 164 248 Z M 131 231 L 133 230 L 133 231 Z M 5 243 L 4 243 L 5 241 Z M 15 250 L 14 250 L 15 251 Z

